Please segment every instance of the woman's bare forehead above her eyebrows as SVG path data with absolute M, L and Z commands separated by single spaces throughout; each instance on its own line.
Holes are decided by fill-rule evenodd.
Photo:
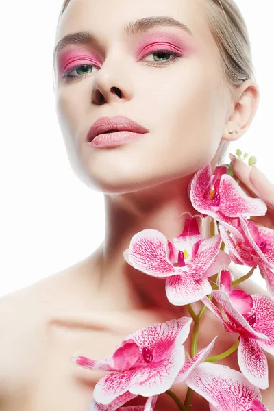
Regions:
M 129 22 L 168 16 L 187 25 L 197 45 L 217 54 L 206 21 L 205 1 L 208 0 L 71 0 L 60 18 L 55 44 L 67 34 L 91 30 L 108 47 L 125 36 L 124 27 Z

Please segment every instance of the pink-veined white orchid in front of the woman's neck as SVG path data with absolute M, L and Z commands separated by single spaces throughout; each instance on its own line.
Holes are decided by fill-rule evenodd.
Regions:
M 221 236 L 201 237 L 196 216 L 186 219 L 173 243 L 156 229 L 144 229 L 132 237 L 124 258 L 135 269 L 166 279 L 166 296 L 175 306 L 199 301 L 210 294 L 208 281 L 231 260 L 220 250 Z M 177 264 L 177 266 L 173 265 Z

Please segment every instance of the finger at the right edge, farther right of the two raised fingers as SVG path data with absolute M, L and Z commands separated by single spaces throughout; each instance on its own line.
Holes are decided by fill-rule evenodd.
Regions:
M 274 210 L 274 184 L 256 166 L 251 167 L 250 180 L 266 205 Z

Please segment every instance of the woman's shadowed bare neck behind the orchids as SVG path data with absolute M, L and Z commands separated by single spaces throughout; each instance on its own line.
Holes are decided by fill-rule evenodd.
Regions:
M 157 229 L 171 242 L 184 227 L 186 216 L 199 214 L 187 194 L 191 176 L 158 184 L 138 192 L 105 195 L 105 240 L 99 249 L 99 295 L 121 310 L 159 309 L 186 314 L 166 297 L 165 280 L 134 269 L 123 251 L 137 232 Z M 209 228 L 208 228 L 209 229 Z M 208 233 L 204 233 L 205 237 Z

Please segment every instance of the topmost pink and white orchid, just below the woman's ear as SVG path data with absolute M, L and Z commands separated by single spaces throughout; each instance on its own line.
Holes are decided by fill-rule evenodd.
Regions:
M 210 164 L 197 171 L 188 194 L 195 210 L 216 219 L 234 234 L 238 233 L 232 219 L 262 216 L 267 210 L 262 199 L 245 194 L 225 166 L 217 166 L 213 174 Z

